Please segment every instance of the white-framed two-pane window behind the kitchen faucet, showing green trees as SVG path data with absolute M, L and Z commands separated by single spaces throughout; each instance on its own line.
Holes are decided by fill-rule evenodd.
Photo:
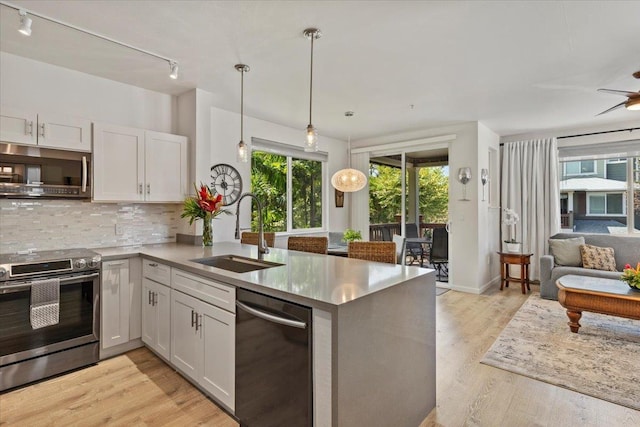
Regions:
M 265 231 L 324 228 L 325 153 L 305 153 L 276 142 L 252 139 L 251 191 L 263 201 Z M 251 225 L 258 228 L 257 207 Z

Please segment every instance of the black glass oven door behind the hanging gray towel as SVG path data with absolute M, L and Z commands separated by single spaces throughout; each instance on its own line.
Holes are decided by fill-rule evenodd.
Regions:
M 29 316 L 32 281 L 0 287 L 0 367 L 99 341 L 100 273 L 59 278 L 60 320 L 40 329 L 31 327 Z

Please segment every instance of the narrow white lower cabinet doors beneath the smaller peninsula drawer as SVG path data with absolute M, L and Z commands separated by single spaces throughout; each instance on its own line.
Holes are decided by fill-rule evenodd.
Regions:
M 171 289 L 144 277 L 142 279 L 142 342 L 171 359 Z

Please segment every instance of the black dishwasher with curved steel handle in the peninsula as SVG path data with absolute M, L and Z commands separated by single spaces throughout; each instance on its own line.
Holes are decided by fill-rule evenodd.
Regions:
M 236 295 L 240 425 L 311 426 L 311 308 L 244 289 Z

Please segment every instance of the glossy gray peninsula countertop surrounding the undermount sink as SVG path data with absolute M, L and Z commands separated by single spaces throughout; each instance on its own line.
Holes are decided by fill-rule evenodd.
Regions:
M 408 280 L 422 277 L 426 281 L 426 275 L 433 272 L 412 266 L 269 249 L 264 260 L 284 265 L 247 273 L 234 273 L 190 261 L 227 254 L 258 257 L 256 246 L 235 242 L 215 242 L 208 248 L 167 243 L 93 250 L 102 255 L 103 261 L 142 255 L 223 283 L 324 309 L 335 309 Z

